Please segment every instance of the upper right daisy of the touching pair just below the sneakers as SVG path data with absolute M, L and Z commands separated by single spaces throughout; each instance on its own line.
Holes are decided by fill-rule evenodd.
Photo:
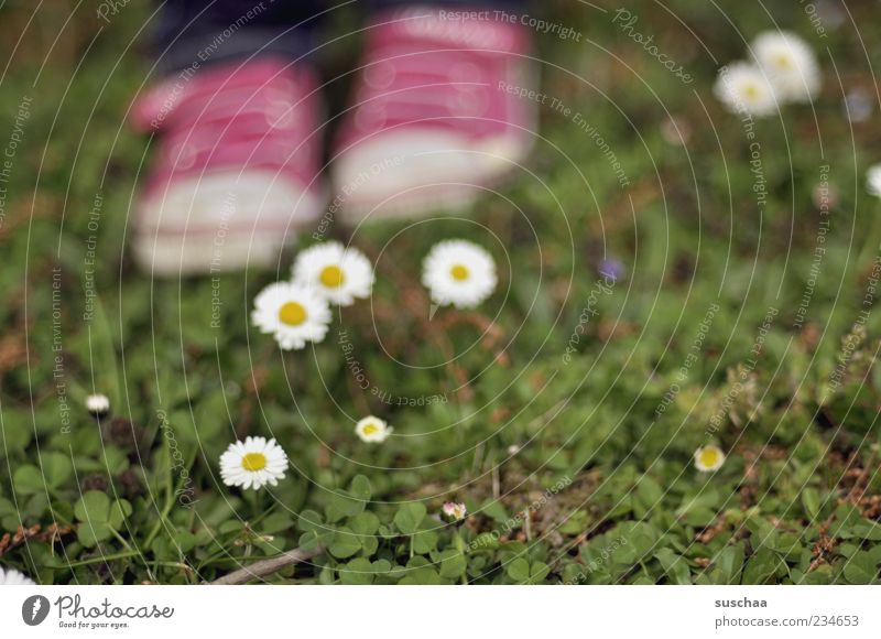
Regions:
M 370 260 L 355 248 L 339 242 L 309 247 L 297 256 L 292 269 L 294 282 L 314 288 L 331 304 L 348 306 L 355 299 L 370 296 L 373 268 Z

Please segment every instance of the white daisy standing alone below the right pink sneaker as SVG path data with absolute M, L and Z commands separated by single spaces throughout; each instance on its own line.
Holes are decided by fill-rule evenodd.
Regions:
M 443 306 L 474 308 L 492 294 L 497 282 L 492 256 L 466 240 L 436 243 L 422 264 L 422 283 Z

